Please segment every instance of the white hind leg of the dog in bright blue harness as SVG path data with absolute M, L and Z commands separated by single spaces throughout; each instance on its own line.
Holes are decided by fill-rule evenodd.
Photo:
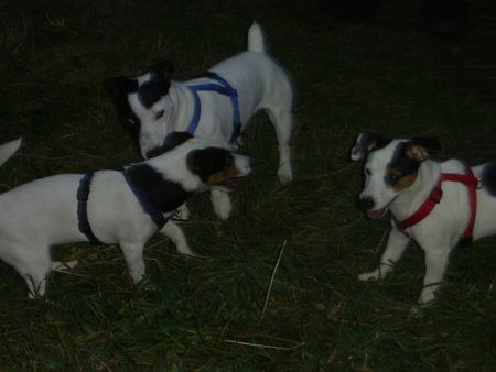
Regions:
M 291 106 L 288 108 L 267 107 L 266 112 L 272 122 L 278 139 L 279 146 L 279 168 L 278 177 L 281 184 L 287 184 L 293 179 L 291 167 L 291 134 L 293 131 L 293 116 Z

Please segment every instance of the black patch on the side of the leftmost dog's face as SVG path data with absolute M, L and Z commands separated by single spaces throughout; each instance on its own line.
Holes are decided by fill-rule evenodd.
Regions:
M 194 150 L 187 155 L 187 167 L 197 174 L 203 183 L 208 178 L 233 165 L 233 155 L 225 149 L 207 147 Z

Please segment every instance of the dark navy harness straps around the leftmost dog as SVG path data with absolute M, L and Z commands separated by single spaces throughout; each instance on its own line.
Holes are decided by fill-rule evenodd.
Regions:
M 153 222 L 155 222 L 158 231 L 162 229 L 169 218 L 163 217 L 162 211 L 157 208 L 148 195 L 131 180 L 126 169 L 119 168 L 114 171 L 122 173 L 129 188 L 137 197 L 144 212 L 150 216 Z M 105 243 L 95 236 L 88 220 L 88 196 L 94 174 L 95 172 L 86 173 L 79 182 L 79 187 L 77 189 L 77 219 L 79 221 L 79 231 L 88 238 L 89 242 L 94 245 L 103 245 Z

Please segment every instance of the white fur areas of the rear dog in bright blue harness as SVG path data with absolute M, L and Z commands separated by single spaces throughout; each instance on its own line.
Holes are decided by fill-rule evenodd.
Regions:
M 248 31 L 248 51 L 218 63 L 209 70 L 217 73 L 237 90 L 242 129 L 256 111 L 265 110 L 268 113 L 279 143 L 278 176 L 285 184 L 293 177 L 290 158 L 293 89 L 288 74 L 265 51 L 262 31 L 254 23 Z M 150 74 L 147 73 L 138 78 L 138 83 L 141 85 L 149 79 Z M 168 133 L 187 129 L 195 107 L 187 86 L 204 83 L 215 81 L 207 78 L 172 80 L 169 95 L 149 109 L 140 103 L 137 94 L 128 96 L 131 109 L 141 121 L 139 143 L 143 157 L 147 157 L 148 151 L 161 146 Z M 201 91 L 198 95 L 202 114 L 195 135 L 213 138 L 227 144 L 234 129 L 229 97 L 211 91 Z M 162 110 L 163 117 L 157 119 L 157 113 Z M 230 215 L 228 195 L 213 195 L 211 199 L 220 218 Z

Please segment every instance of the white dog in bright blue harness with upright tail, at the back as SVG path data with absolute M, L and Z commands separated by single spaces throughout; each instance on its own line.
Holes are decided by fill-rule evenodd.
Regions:
M 170 63 L 154 65 L 137 78 L 108 80 L 125 128 L 137 140 L 144 158 L 163 152 L 172 131 L 187 131 L 235 147 L 258 110 L 265 110 L 279 143 L 279 180 L 292 179 L 290 139 L 293 89 L 289 75 L 266 53 L 260 26 L 248 31 L 248 51 L 213 66 L 187 81 L 171 80 Z M 228 194 L 214 189 L 211 200 L 220 218 L 228 218 Z

